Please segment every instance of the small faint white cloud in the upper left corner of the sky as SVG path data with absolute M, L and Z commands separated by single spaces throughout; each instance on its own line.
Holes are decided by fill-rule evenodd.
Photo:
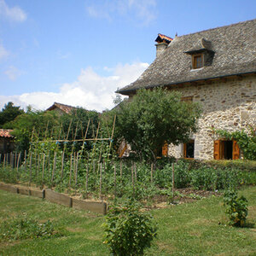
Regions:
M 20 9 L 20 7 L 15 6 L 10 8 L 4 0 L 0 0 L 0 15 L 13 21 L 22 22 L 26 20 L 26 13 Z

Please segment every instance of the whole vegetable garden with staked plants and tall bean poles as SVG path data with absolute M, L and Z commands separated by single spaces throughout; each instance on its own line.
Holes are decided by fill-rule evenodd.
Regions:
M 238 168 L 195 165 L 172 158 L 159 160 L 156 164 L 119 160 L 113 148 L 114 121 L 106 138 L 102 137 L 106 130 L 100 124 L 96 126 L 95 137 L 86 137 L 92 125 L 90 121 L 82 139 L 76 139 L 76 131 L 72 131 L 73 140 L 67 139 L 68 134 L 61 138 L 59 128 L 58 139 L 45 136 L 43 141 L 39 141 L 34 131 L 30 149 L 24 152 L 24 156 L 18 153 L 2 156 L 1 180 L 36 185 L 41 189 L 52 188 L 83 198 L 106 201 L 135 198 L 148 203 L 156 198 L 170 202 L 174 196 L 184 196 L 178 190 L 173 192 L 174 188 L 215 191 L 255 183 L 255 172 Z M 198 198 L 196 195 L 189 196 Z

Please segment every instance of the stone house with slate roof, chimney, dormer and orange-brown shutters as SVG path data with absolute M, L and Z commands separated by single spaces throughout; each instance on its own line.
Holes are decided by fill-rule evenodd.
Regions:
M 235 141 L 212 134 L 212 127 L 237 131 L 256 127 L 256 20 L 155 40 L 156 58 L 137 79 L 117 92 L 132 97 L 141 88 L 177 90 L 182 100 L 200 102 L 199 131 L 189 143 L 168 145 L 175 157 L 238 159 Z

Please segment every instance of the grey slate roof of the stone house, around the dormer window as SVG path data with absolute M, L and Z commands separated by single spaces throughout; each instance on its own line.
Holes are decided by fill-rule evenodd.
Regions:
M 192 69 L 190 54 L 200 50 L 211 51 L 212 61 Z M 137 81 L 117 92 L 246 73 L 256 73 L 256 19 L 174 38 Z

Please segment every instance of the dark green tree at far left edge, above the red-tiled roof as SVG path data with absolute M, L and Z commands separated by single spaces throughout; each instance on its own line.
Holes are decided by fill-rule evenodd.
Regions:
M 0 112 L 0 127 L 13 129 L 9 122 L 14 120 L 21 113 L 24 113 L 23 109 L 20 109 L 20 107 L 15 107 L 13 102 L 8 102 L 4 105 L 4 108 Z

